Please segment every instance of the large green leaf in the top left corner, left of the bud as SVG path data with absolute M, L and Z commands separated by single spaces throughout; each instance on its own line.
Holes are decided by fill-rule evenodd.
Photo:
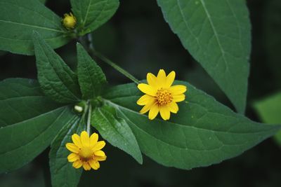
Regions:
M 0 49 L 33 55 L 32 32 L 37 31 L 52 48 L 70 41 L 61 18 L 39 0 L 0 1 Z

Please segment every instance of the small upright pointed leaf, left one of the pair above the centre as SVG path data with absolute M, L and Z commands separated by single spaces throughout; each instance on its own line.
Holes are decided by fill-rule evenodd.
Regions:
M 45 95 L 61 103 L 79 101 L 81 93 L 76 74 L 37 32 L 33 39 L 38 80 Z

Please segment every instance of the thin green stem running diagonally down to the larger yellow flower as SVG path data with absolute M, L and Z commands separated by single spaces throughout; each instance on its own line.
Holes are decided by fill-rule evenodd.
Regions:
M 125 69 L 123 69 L 122 67 L 119 67 L 117 64 L 115 64 L 115 62 L 112 62 L 111 60 L 109 60 L 107 57 L 105 57 L 104 55 L 102 55 L 101 53 L 98 53 L 94 48 L 93 48 L 93 39 L 91 34 L 87 35 L 87 39 L 89 41 L 89 50 L 91 50 L 91 53 L 98 57 L 100 60 L 102 60 L 103 62 L 109 64 L 111 67 L 113 67 L 114 69 L 116 69 L 117 71 L 119 71 L 119 73 L 123 74 L 124 76 L 126 76 L 127 78 L 131 79 L 131 81 L 133 81 L 136 84 L 139 84 L 140 81 L 138 81 L 137 78 L 135 78 L 133 75 L 131 75 L 128 71 L 126 71 Z

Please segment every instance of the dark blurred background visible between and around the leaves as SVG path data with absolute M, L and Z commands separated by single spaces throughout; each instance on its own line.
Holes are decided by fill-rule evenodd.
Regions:
M 251 73 L 246 116 L 259 121 L 252 104 L 281 88 L 281 1 L 248 0 L 252 24 Z M 48 0 L 46 6 L 62 16 L 70 2 Z M 107 55 L 139 79 L 162 68 L 175 70 L 177 79 L 188 81 L 231 109 L 226 96 L 183 48 L 164 21 L 156 0 L 123 0 L 116 15 L 93 33 L 96 50 Z M 75 70 L 76 49 L 72 41 L 57 49 Z M 129 83 L 115 69 L 100 63 L 112 84 Z M 0 51 L 0 80 L 36 78 L 34 56 Z M 107 144 L 108 145 L 108 144 Z M 281 147 L 268 139 L 237 158 L 190 171 L 163 167 L 145 157 L 138 165 L 129 155 L 107 146 L 108 160 L 98 171 L 84 172 L 79 186 L 281 186 Z M 48 149 L 15 172 L 0 175 L 1 187 L 51 186 Z

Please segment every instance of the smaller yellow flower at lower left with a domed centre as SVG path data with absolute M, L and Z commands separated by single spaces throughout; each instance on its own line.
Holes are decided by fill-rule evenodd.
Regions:
M 93 133 L 91 137 L 86 131 L 72 135 L 73 143 L 67 143 L 66 148 L 72 153 L 67 156 L 69 162 L 73 162 L 72 166 L 80 168 L 83 166 L 85 170 L 98 169 L 99 161 L 106 160 L 105 152 L 101 151 L 105 146 L 105 141 L 98 141 L 98 134 Z

